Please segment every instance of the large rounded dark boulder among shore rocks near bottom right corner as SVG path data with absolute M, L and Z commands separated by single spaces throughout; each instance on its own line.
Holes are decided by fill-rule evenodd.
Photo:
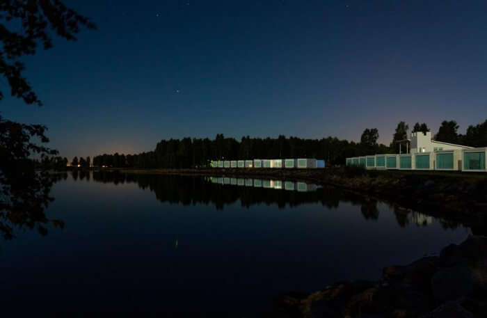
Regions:
M 465 263 L 440 269 L 431 278 L 433 296 L 438 301 L 451 301 L 472 292 L 472 272 Z

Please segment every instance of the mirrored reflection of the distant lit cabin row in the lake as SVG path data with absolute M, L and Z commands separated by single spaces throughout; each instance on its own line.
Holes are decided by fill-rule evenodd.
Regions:
M 308 184 L 306 182 L 282 181 L 282 180 L 266 180 L 266 179 L 249 179 L 249 178 L 235 178 L 235 177 L 207 177 L 207 180 L 222 185 L 232 186 L 253 186 L 254 188 L 265 189 L 285 189 L 287 191 L 298 192 L 313 192 L 317 191 L 316 184 Z

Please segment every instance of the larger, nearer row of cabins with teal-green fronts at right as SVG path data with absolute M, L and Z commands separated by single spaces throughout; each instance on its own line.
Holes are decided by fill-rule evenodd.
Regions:
M 412 154 L 375 154 L 346 159 L 347 166 L 367 169 L 487 172 L 487 148 L 436 150 Z

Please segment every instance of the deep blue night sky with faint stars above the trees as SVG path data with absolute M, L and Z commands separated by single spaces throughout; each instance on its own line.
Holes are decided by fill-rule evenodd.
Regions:
M 68 158 L 218 133 L 389 144 L 400 120 L 487 118 L 487 1 L 64 2 L 98 29 L 26 58 L 44 106 L 1 114 Z

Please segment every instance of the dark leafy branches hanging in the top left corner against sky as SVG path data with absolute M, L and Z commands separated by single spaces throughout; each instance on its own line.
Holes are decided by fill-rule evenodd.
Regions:
M 49 30 L 74 41 L 80 26 L 95 29 L 95 24 L 87 17 L 67 8 L 59 0 L 0 1 L 0 22 L 3 22 L 0 24 L 0 74 L 7 79 L 12 96 L 22 98 L 26 104 L 38 105 L 42 102 L 22 74 L 24 63 L 19 58 L 35 54 L 39 44 L 43 49 L 50 49 Z M 15 22 L 22 26 L 21 32 L 12 30 Z M 0 100 L 3 96 L 0 91 Z

